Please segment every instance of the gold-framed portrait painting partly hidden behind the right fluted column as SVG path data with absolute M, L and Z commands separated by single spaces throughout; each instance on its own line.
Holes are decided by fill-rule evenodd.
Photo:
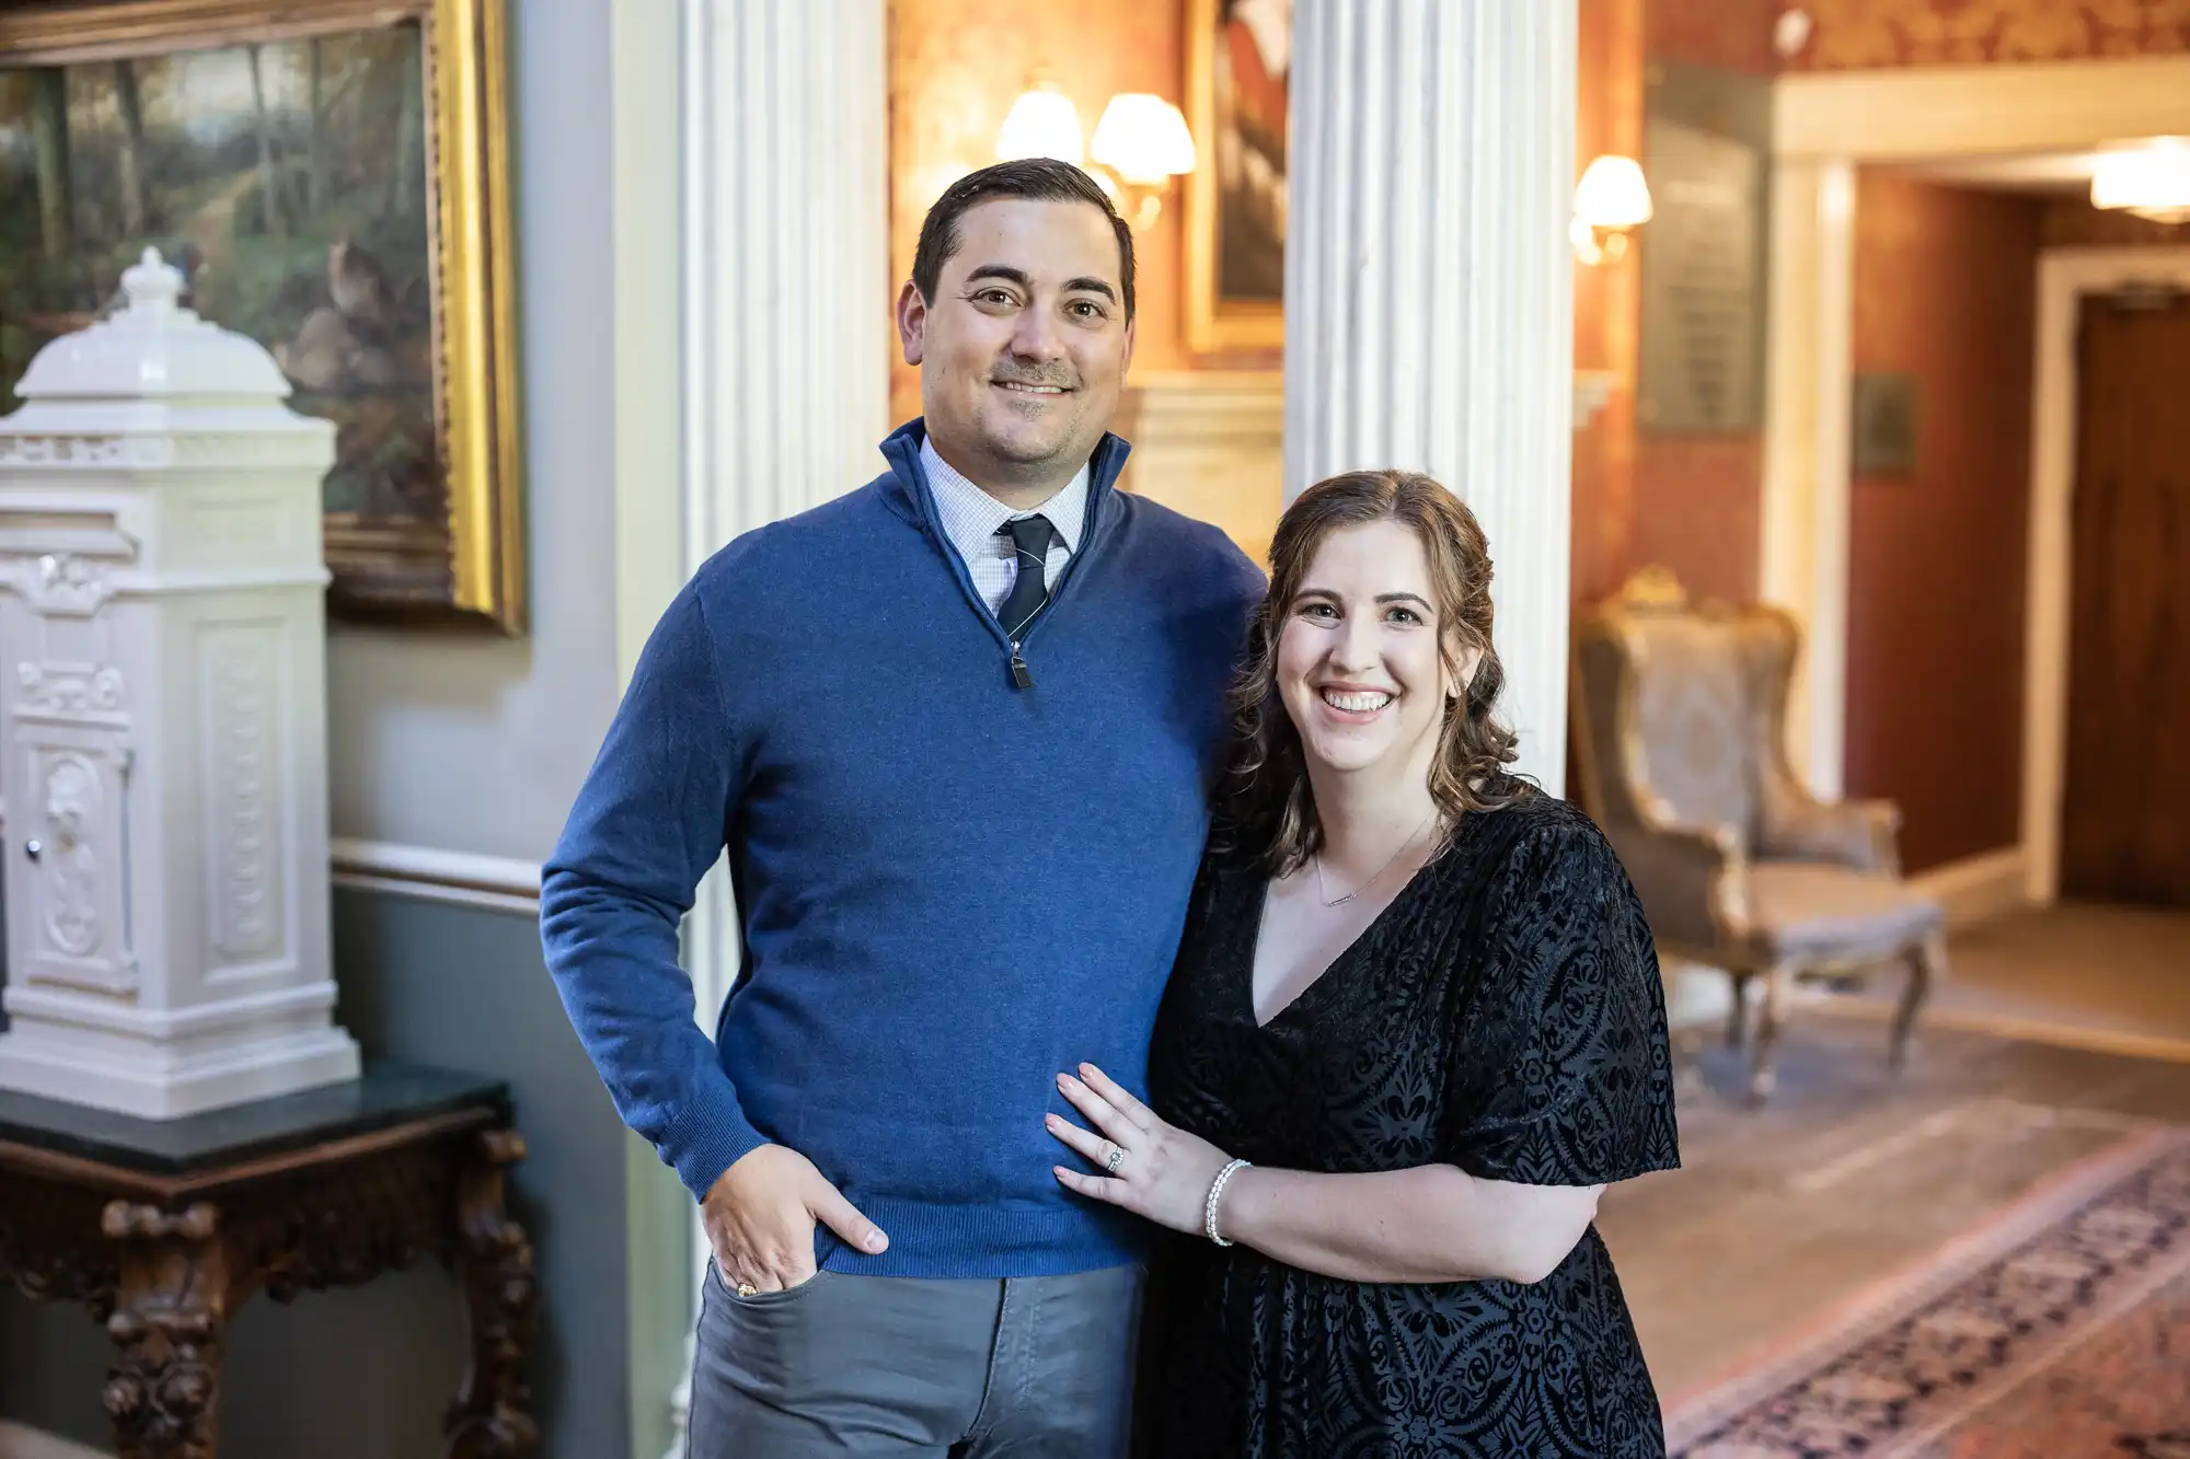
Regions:
M 1292 0 L 1189 0 L 1187 344 L 1286 342 L 1286 134 Z

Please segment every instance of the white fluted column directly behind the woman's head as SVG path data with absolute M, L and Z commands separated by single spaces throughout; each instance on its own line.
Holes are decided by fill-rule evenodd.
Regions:
M 1561 791 L 1575 0 L 1296 0 L 1286 499 L 1428 471 L 1483 521 L 1520 767 Z

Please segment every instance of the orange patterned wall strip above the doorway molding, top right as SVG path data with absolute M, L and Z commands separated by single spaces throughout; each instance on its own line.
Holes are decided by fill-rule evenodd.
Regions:
M 1686 0 L 1693 4 L 1695 0 Z M 2190 0 L 1802 0 L 1807 70 L 2190 50 Z

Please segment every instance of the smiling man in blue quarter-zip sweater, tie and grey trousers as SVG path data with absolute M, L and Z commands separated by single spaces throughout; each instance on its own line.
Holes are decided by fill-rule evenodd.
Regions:
M 953 184 L 898 298 L 924 416 L 655 629 L 541 874 L 563 1003 L 714 1247 L 692 1455 L 1119 1455 L 1139 1231 L 1058 1073 L 1139 1078 L 1261 594 L 1115 491 L 1132 237 L 1047 160 Z M 727 846 L 710 1043 L 677 924 Z

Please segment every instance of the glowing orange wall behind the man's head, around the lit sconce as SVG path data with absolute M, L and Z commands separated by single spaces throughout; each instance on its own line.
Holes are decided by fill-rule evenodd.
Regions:
M 996 127 L 1034 68 L 1080 107 L 1093 136 L 1115 92 L 1156 92 L 1185 105 L 1183 0 L 1102 7 L 1005 0 L 891 0 L 889 7 L 891 289 L 913 272 L 929 204 L 955 177 L 996 160 Z M 1139 342 L 1134 370 L 1189 364 L 1183 340 L 1183 250 L 1174 188 L 1163 217 L 1134 239 Z M 920 414 L 920 372 L 891 357 L 891 421 Z

